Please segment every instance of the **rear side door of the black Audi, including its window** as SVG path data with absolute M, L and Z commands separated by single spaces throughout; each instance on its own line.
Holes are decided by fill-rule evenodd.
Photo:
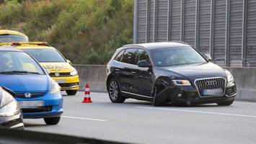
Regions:
M 123 53 L 122 60 L 120 60 L 121 66 L 115 68 L 115 72 L 118 74 L 118 83 L 120 85 L 120 91 L 123 93 L 133 93 L 133 79 L 135 73 L 135 59 L 138 48 L 127 48 Z

